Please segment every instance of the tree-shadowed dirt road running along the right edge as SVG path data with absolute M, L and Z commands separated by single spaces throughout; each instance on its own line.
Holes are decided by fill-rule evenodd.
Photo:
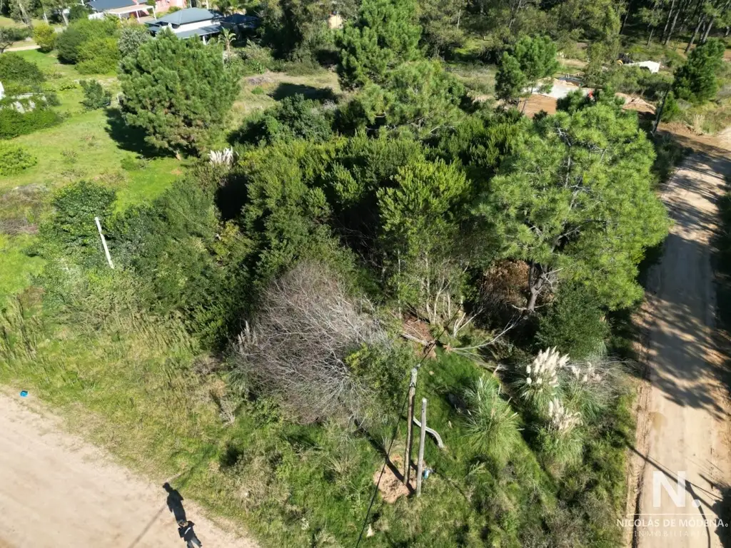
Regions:
M 731 463 L 723 359 L 713 347 L 711 267 L 724 173 L 731 174 L 731 154 L 697 153 L 663 193 L 675 225 L 648 279 L 650 384 L 635 448 L 640 547 L 720 547 L 729 532 L 727 522 L 715 521 Z

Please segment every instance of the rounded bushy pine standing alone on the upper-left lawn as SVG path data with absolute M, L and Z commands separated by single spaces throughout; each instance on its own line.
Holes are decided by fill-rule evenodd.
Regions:
M 238 77 L 219 47 L 163 33 L 121 63 L 124 120 L 148 142 L 173 151 L 200 152 L 220 130 L 238 93 Z

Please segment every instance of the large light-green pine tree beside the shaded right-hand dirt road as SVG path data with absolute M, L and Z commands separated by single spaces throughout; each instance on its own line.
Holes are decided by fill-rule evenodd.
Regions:
M 635 113 L 594 104 L 559 112 L 520 134 L 501 174 L 478 200 L 486 250 L 529 263 L 528 305 L 558 281 L 591 289 L 609 308 L 642 297 L 644 249 L 667 233 L 652 190 L 652 143 Z

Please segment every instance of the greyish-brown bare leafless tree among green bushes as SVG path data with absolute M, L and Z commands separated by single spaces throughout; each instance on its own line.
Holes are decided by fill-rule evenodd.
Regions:
M 300 262 L 265 290 L 236 354 L 254 386 L 279 395 L 300 421 L 339 414 L 365 419 L 373 394 L 346 357 L 387 343 L 370 303 L 349 297 L 326 265 Z

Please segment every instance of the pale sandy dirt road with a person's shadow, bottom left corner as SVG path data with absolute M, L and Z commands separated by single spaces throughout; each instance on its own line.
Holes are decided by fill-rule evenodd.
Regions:
M 160 485 L 63 433 L 58 419 L 31 405 L 0 393 L 0 548 L 185 546 Z M 225 533 L 189 501 L 182 504 L 204 546 L 257 546 Z

